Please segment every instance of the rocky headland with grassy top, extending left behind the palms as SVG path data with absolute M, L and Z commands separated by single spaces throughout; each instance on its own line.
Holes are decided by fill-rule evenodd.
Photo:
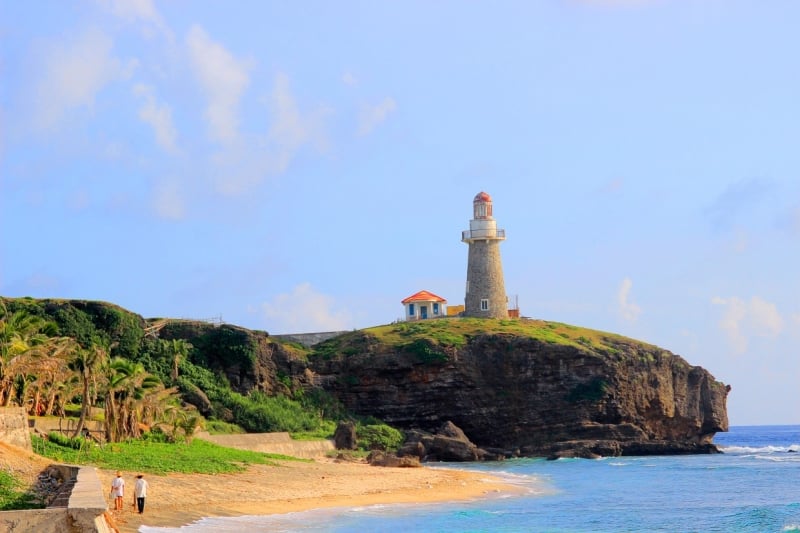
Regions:
M 249 411 L 226 391 L 293 397 L 303 390 L 328 402 L 316 394 L 321 388 L 350 412 L 399 429 L 435 433 L 452 422 L 490 456 L 710 453 L 714 434 L 728 428 L 730 387 L 705 369 L 657 346 L 556 322 L 401 322 L 309 351 L 264 331 L 145 320 L 104 302 L 0 302 L 9 312 L 52 318 L 60 335 L 85 346 L 113 346 L 112 355 L 141 361 L 178 386 L 204 416 L 252 431 L 275 430 L 263 412 L 269 408 Z M 174 354 L 162 345 L 173 339 L 192 346 L 177 379 Z M 314 417 L 336 408 L 317 407 Z

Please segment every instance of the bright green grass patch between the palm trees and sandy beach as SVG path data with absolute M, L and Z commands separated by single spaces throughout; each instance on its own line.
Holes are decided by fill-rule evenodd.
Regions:
M 134 440 L 84 450 L 65 448 L 36 435 L 32 435 L 31 439 L 36 453 L 57 462 L 150 474 L 222 474 L 241 472 L 251 464 L 300 460 L 286 455 L 225 448 L 200 439 L 193 440 L 191 444 Z

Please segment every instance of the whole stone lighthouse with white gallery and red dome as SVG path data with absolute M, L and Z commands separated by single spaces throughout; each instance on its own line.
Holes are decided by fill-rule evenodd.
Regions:
M 500 241 L 506 232 L 492 218 L 492 197 L 479 192 L 472 201 L 473 216 L 461 241 L 469 245 L 464 316 L 508 318 L 508 298 L 500 261 Z

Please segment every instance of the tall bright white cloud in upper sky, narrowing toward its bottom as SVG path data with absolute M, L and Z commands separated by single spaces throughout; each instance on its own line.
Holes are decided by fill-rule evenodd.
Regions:
M 215 141 L 231 143 L 239 137 L 239 101 L 250 83 L 249 64 L 236 59 L 197 25 L 189 30 L 186 44 L 192 69 L 208 97 L 209 135 Z

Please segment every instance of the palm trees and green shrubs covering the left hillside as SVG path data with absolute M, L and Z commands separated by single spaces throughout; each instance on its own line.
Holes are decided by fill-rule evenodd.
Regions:
M 141 317 L 104 302 L 0 298 L 0 405 L 63 417 L 66 405 L 80 404 L 72 436 L 101 407 L 109 442 L 137 438 L 148 426 L 185 440 L 208 422 L 214 431 L 332 434 L 331 417 L 342 410 L 323 394 L 295 390 L 290 376 L 278 376 L 274 396 L 233 390 L 226 372 L 252 372 L 257 357 L 247 330 L 154 322 L 177 338 L 145 336 Z M 292 357 L 307 354 L 298 344 L 283 349 Z M 201 416 L 182 403 L 187 398 L 210 402 L 210 409 Z

